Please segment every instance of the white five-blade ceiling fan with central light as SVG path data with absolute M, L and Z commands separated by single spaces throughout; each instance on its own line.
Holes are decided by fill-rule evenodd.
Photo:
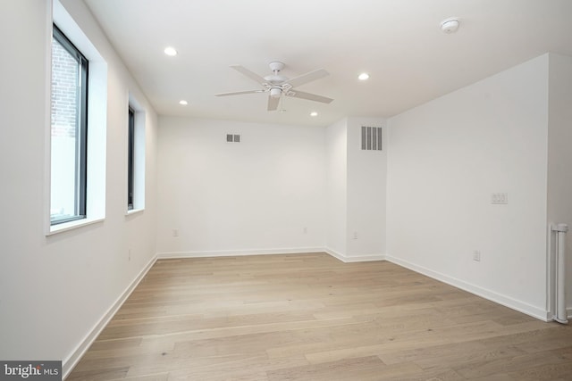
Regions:
M 278 109 L 278 104 L 282 95 L 292 96 L 294 98 L 307 99 L 309 101 L 322 102 L 323 104 L 329 104 L 333 101 L 332 98 L 328 98 L 322 95 L 315 95 L 310 93 L 305 93 L 303 91 L 296 90 L 294 87 L 299 87 L 315 79 L 321 79 L 325 76 L 330 75 L 324 69 L 318 69 L 310 71 L 306 74 L 302 74 L 299 77 L 293 79 L 288 79 L 280 75 L 280 71 L 284 69 L 284 63 L 282 62 L 270 62 L 270 70 L 272 74 L 265 77 L 259 76 L 257 73 L 248 70 L 240 65 L 231 66 L 232 69 L 239 71 L 241 74 L 247 76 L 249 79 L 253 79 L 262 86 L 258 90 L 247 90 L 247 91 L 237 91 L 233 93 L 222 93 L 215 94 L 216 96 L 226 96 L 226 95 L 243 95 L 243 94 L 254 94 L 254 93 L 268 93 L 268 111 L 272 112 Z

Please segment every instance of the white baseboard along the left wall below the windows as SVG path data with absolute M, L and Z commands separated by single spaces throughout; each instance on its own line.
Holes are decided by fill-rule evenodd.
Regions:
M 139 285 L 139 282 L 147 275 L 149 269 L 153 267 L 157 258 L 156 255 L 151 258 L 151 260 L 147 263 L 147 265 L 139 272 L 138 276 L 133 279 L 129 286 L 122 292 L 122 294 L 115 300 L 112 306 L 107 310 L 104 316 L 99 319 L 97 324 L 91 328 L 83 340 L 81 340 L 80 344 L 71 352 L 71 354 L 62 361 L 62 373 L 63 378 L 65 379 L 71 373 L 71 370 L 75 368 L 78 362 L 81 360 L 81 357 L 88 351 L 89 346 L 93 344 L 96 340 L 97 336 L 101 333 L 101 331 L 107 326 L 109 321 L 114 317 L 115 313 L 119 311 L 123 302 L 127 300 L 130 294 L 133 292 L 135 287 Z

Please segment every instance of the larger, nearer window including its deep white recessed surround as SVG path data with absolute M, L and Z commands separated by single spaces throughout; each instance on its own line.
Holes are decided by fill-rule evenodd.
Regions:
M 63 4 L 51 3 L 46 236 L 105 219 L 107 169 L 107 62 Z

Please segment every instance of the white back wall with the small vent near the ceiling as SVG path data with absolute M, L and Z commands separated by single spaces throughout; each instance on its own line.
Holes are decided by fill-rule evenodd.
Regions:
M 158 253 L 324 247 L 324 128 L 173 117 L 159 123 Z M 240 134 L 240 143 L 227 143 L 227 134 Z

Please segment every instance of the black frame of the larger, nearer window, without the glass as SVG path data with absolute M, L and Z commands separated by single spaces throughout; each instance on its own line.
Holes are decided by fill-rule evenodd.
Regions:
M 87 218 L 87 189 L 88 189 L 88 75 L 89 61 L 71 40 L 53 23 L 52 38 L 73 56 L 79 65 L 80 91 L 78 92 L 78 105 L 80 108 L 76 121 L 76 157 L 75 161 L 75 189 L 74 189 L 74 215 L 63 219 L 52 219 L 50 225 L 60 225 L 66 222 Z M 53 68 L 52 68 L 53 70 Z M 51 89 L 50 85 L 50 89 Z

